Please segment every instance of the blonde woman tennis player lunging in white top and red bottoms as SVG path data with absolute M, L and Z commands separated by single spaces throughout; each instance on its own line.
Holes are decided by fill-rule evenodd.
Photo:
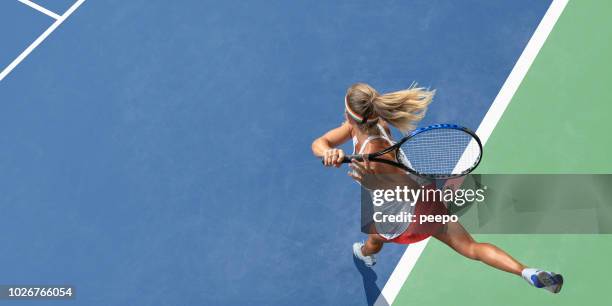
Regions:
M 346 120 L 339 127 L 317 138 L 312 143 L 312 151 L 315 156 L 322 158 L 323 164 L 327 167 L 342 165 L 345 153 L 338 146 L 349 139 L 353 141 L 353 154 L 381 151 L 394 143 L 389 126 L 403 133 L 413 130 L 425 115 L 433 96 L 434 91 L 416 86 L 381 95 L 367 84 L 354 84 L 348 89 L 345 96 Z M 394 154 L 396 153 L 390 152 L 383 157 L 395 160 Z M 370 174 L 408 174 L 400 168 L 379 162 L 368 162 L 368 160 L 363 162 L 353 160 L 350 167 L 352 171 L 349 172 L 349 176 L 360 184 L 364 184 L 364 177 Z M 424 184 L 423 181 L 419 181 L 418 177 L 402 175 L 404 176 L 411 177 L 408 181 L 413 181 L 413 186 Z M 367 188 L 367 186 L 364 187 Z M 429 188 L 435 187 L 429 186 Z M 441 203 L 421 202 L 417 202 L 416 205 L 396 206 L 396 212 L 410 212 L 417 216 L 447 213 Z M 527 268 L 500 248 L 489 243 L 476 242 L 457 222 L 445 225 L 436 223 L 418 225 L 404 222 L 396 225 L 395 228 L 385 229 L 384 233 L 376 226 L 373 226 L 370 232 L 365 243 L 353 244 L 354 256 L 369 267 L 376 263 L 375 254 L 380 252 L 385 243 L 409 244 L 433 236 L 467 258 L 479 260 L 499 270 L 522 276 L 534 287 L 558 293 L 563 285 L 563 277 L 560 274 Z

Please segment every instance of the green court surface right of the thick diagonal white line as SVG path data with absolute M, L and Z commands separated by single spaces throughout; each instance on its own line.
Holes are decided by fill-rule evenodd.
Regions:
M 486 147 L 481 173 L 612 173 L 612 2 L 570 1 Z M 562 273 L 560 294 L 432 239 L 393 305 L 611 305 L 612 235 L 476 235 Z

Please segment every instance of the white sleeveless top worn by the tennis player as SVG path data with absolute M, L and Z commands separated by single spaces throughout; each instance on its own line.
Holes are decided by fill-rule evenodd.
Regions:
M 375 139 L 384 139 L 385 141 L 389 143 L 389 145 L 395 144 L 395 142 L 391 140 L 391 137 L 389 137 L 385 129 L 380 124 L 377 124 L 376 126 L 378 126 L 380 135 L 368 136 L 368 138 L 366 138 L 366 140 L 361 144 L 361 147 L 359 148 L 359 152 L 357 152 L 357 154 L 363 154 L 367 144 L 370 143 L 370 141 L 375 140 Z M 357 137 L 353 136 L 353 154 L 355 154 L 355 149 L 357 148 L 357 144 L 358 144 Z M 400 156 L 401 158 L 404 153 L 400 150 L 398 151 L 397 154 L 401 154 Z M 370 196 L 372 196 L 371 190 L 370 190 Z M 381 212 L 383 215 L 399 215 L 403 212 L 413 214 L 414 205 L 410 205 L 410 204 L 411 204 L 410 202 L 389 202 L 389 203 L 385 203 L 382 206 L 375 206 L 375 205 L 372 205 L 372 206 L 373 206 L 374 212 Z M 382 236 L 385 239 L 390 240 L 404 233 L 408 229 L 408 226 L 410 225 L 410 223 L 408 222 L 397 222 L 397 223 L 374 222 L 374 225 L 376 226 L 376 231 L 378 232 L 380 236 Z

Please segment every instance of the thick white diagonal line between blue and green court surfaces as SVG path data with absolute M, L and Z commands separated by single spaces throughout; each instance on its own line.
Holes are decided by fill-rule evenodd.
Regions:
M 523 50 L 523 53 L 514 65 L 514 68 L 512 68 L 510 75 L 506 79 L 506 82 L 504 82 L 504 85 L 497 94 L 497 97 L 495 97 L 493 104 L 491 104 L 489 111 L 487 111 L 487 114 L 476 131 L 476 134 L 478 134 L 482 140 L 483 145 L 491 136 L 493 129 L 499 122 L 499 119 L 501 119 L 504 111 L 508 107 L 508 104 L 510 104 L 510 100 L 512 100 L 512 97 L 523 81 L 523 78 L 525 78 L 527 71 L 529 71 L 529 67 L 531 67 L 531 64 L 540 52 L 540 49 L 557 23 L 561 13 L 563 13 L 568 1 L 569 0 L 554 0 L 552 2 L 546 11 L 546 14 L 542 18 L 542 21 L 540 21 L 538 28 L 535 30 L 533 36 L 531 36 L 531 39 L 527 43 L 525 50 Z M 406 248 L 404 255 L 402 255 L 402 258 L 393 270 L 393 273 L 391 273 L 391 276 L 381 291 L 380 296 L 376 300 L 375 305 L 382 306 L 393 304 L 393 301 L 395 301 L 395 298 L 404 285 L 404 282 L 423 253 L 429 239 L 430 238 L 427 238 L 419 243 L 409 245 L 408 248 Z

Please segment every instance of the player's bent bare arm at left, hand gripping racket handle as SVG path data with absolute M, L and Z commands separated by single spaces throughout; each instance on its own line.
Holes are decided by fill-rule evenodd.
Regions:
M 344 122 L 341 126 L 315 139 L 312 142 L 312 153 L 321 157 L 325 166 L 340 167 L 345 154 L 342 149 L 337 149 L 337 147 L 349 139 L 351 139 L 351 125 Z

